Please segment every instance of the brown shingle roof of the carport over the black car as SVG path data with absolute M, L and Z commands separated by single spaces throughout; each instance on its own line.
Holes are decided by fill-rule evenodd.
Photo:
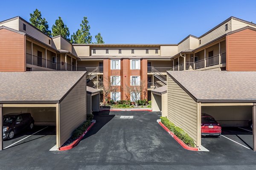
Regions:
M 86 71 L 0 72 L 0 103 L 58 102 Z

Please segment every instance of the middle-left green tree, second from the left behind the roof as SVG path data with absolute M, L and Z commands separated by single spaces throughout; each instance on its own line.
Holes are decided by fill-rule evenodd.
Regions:
M 67 27 L 67 25 L 64 24 L 63 20 L 61 19 L 61 17 L 58 17 L 57 20 L 55 20 L 55 24 L 53 24 L 52 26 L 52 37 L 61 35 L 62 37 L 64 37 L 65 39 L 69 40 L 69 36 L 70 36 L 70 31 L 69 28 Z

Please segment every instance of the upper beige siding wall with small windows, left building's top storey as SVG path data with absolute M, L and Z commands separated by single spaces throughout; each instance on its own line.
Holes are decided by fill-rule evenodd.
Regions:
M 23 30 L 23 23 L 26 25 L 26 31 Z M 25 23 L 23 20 L 19 21 L 19 31 L 25 32 L 29 36 L 35 38 L 38 41 L 44 42 L 47 46 L 55 47 L 54 43 L 52 43 L 52 39 L 42 33 L 41 31 L 38 31 L 36 28 L 30 26 L 30 24 Z M 51 45 L 49 45 L 49 40 L 51 40 Z

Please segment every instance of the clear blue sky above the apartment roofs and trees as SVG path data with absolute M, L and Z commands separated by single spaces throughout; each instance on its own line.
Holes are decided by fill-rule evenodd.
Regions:
M 105 43 L 178 43 L 200 36 L 230 16 L 256 23 L 256 0 L 40 0 L 1 2 L 0 21 L 29 21 L 38 8 L 49 27 L 61 16 L 73 34 L 84 16 Z

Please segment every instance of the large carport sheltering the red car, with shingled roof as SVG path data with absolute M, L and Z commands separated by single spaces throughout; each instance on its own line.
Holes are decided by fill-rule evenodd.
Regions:
M 246 126 L 253 119 L 256 150 L 256 72 L 167 71 L 167 118 L 201 149 L 201 113 L 222 126 Z

